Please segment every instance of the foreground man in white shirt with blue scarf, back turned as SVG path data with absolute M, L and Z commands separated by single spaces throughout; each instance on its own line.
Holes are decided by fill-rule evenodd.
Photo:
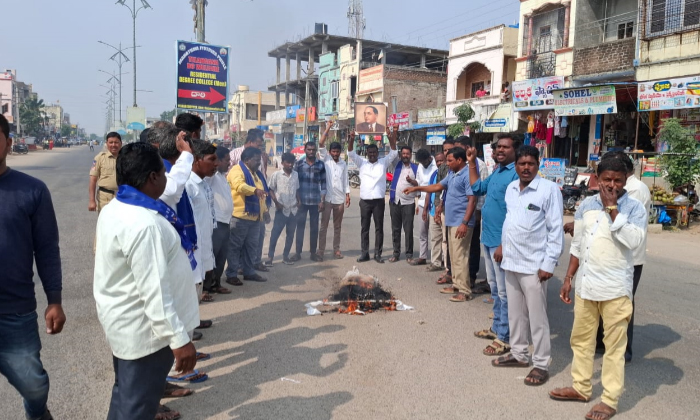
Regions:
M 97 221 L 93 291 L 114 358 L 109 420 L 152 420 L 175 361 L 191 371 L 188 331 L 199 325 L 193 246 L 175 212 L 158 200 L 166 186 L 158 151 L 124 146 L 119 191 Z

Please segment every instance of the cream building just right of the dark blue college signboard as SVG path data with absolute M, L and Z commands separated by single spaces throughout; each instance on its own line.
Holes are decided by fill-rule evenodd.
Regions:
M 284 106 L 284 101 L 282 101 Z M 248 86 L 240 85 L 229 101 L 231 110 L 231 137 L 234 141 L 245 138 L 248 130 L 265 123 L 265 114 L 276 109 L 276 97 L 274 92 L 255 92 Z M 210 128 L 210 121 L 207 127 Z M 215 124 L 211 124 L 213 130 Z M 219 134 L 219 133 L 217 133 Z M 223 136 L 223 133 L 220 133 Z M 222 137 L 223 138 L 223 137 Z

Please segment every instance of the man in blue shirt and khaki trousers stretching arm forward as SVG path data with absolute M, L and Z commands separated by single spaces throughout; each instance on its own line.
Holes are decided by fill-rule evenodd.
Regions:
M 469 182 L 466 151 L 461 147 L 455 147 L 447 152 L 446 157 L 450 173 L 445 179 L 435 185 L 407 188 L 405 193 L 416 191 L 433 193 L 447 190 L 443 207 L 452 261 L 453 286 L 445 287 L 440 293 L 452 294 L 450 298 L 452 302 L 466 302 L 473 299 L 468 281 L 468 267 L 469 244 L 476 223 L 474 217 L 476 197 L 472 193 Z

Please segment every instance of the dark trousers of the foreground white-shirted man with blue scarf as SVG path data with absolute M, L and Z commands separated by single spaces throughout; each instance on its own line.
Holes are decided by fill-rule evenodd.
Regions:
M 136 360 L 113 357 L 114 386 L 107 420 L 153 420 L 173 367 L 173 351 L 164 347 Z

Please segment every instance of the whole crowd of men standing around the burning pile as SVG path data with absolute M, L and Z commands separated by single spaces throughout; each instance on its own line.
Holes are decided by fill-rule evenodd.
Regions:
M 202 123 L 195 115 L 181 114 L 175 124 L 159 122 L 141 142 L 124 147 L 118 134 L 110 133 L 108 150 L 98 155 L 90 173 L 89 210 L 100 213 L 94 296 L 114 358 L 110 420 L 180 417 L 159 403 L 164 396 L 193 392 L 177 383 L 207 380 L 195 365 L 210 355 L 197 352 L 193 342 L 212 323 L 200 319 L 199 304 L 231 293 L 221 286 L 222 279 L 232 286 L 266 281 L 259 273 L 274 266 L 282 231 L 283 264 L 303 258 L 307 220 L 309 258 L 323 261 L 332 216 L 331 255 L 344 257 L 343 213 L 351 204 L 348 165 L 341 158 L 340 142 L 326 147 L 330 124 L 318 147 L 307 143 L 301 159 L 285 153 L 282 169 L 268 178 L 261 131 L 250 130 L 245 144 L 229 151 L 199 139 Z M 498 356 L 494 367 L 531 368 L 524 383 L 539 386 L 549 379 L 551 360 L 547 280 L 563 252 L 564 233 L 570 233 L 571 257 L 560 297 L 572 302 L 575 280 L 573 386 L 549 395 L 589 401 L 598 348 L 604 353 L 604 392 L 586 418 L 615 415 L 625 362 L 632 357 L 633 296 L 642 271 L 650 204 L 648 188 L 631 175 L 629 158 L 609 153 L 601 159 L 600 194 L 584 200 L 573 225 L 564 226 L 559 188 L 538 176 L 538 150 L 522 146 L 516 136 L 499 136 L 493 145 L 496 167 L 487 175 L 468 137 L 447 139 L 443 152 L 434 157 L 418 150 L 413 163 L 410 147 L 397 150 L 395 127 L 387 135 L 390 150 L 382 158 L 375 144 L 365 147 L 363 157 L 354 150 L 355 134 L 347 139 L 348 159 L 357 166 L 361 182 L 357 261 L 385 262 L 390 170 L 392 255 L 386 261 L 401 260 L 403 231 L 408 264 L 426 265 L 427 272 L 444 270 L 437 283 L 450 301 L 467 302 L 478 293 L 490 293 L 493 321 L 475 332 L 490 341 L 483 353 Z M 0 240 L 9 279 L 0 282 L 0 333 L 22 337 L 0 341 L 0 372 L 24 398 L 28 418 L 50 419 L 31 266 L 36 261 L 49 301 L 47 333 L 59 333 L 65 316 L 58 229 L 46 186 L 7 167 L 10 145 L 7 121 L 0 117 L 0 228 L 9 232 Z M 107 180 L 110 174 L 113 180 Z M 31 192 L 18 194 L 20 183 Z M 273 204 L 274 223 L 263 258 Z M 481 249 L 487 281 L 476 283 Z M 22 313 L 29 315 L 16 315 Z

